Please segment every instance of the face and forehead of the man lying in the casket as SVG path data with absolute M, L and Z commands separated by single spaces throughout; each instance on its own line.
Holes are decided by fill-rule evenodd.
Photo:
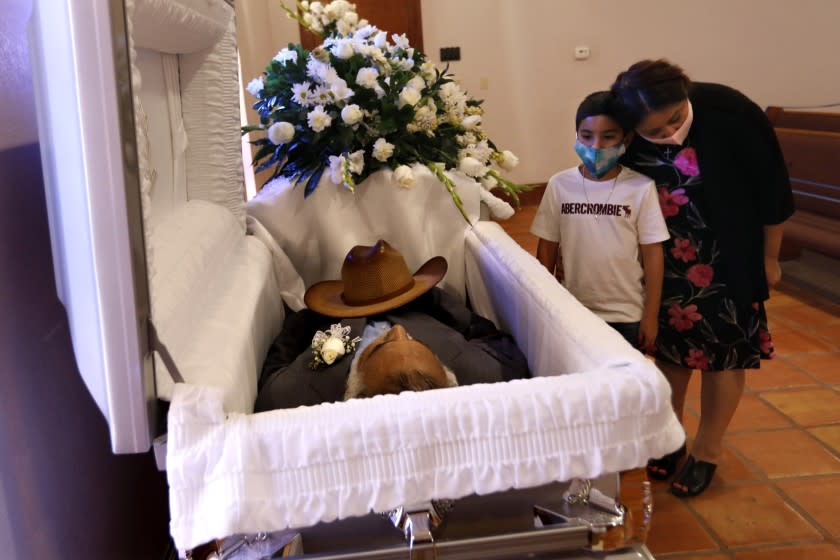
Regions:
M 350 372 L 345 398 L 452 385 L 428 346 L 395 325 L 371 342 Z

